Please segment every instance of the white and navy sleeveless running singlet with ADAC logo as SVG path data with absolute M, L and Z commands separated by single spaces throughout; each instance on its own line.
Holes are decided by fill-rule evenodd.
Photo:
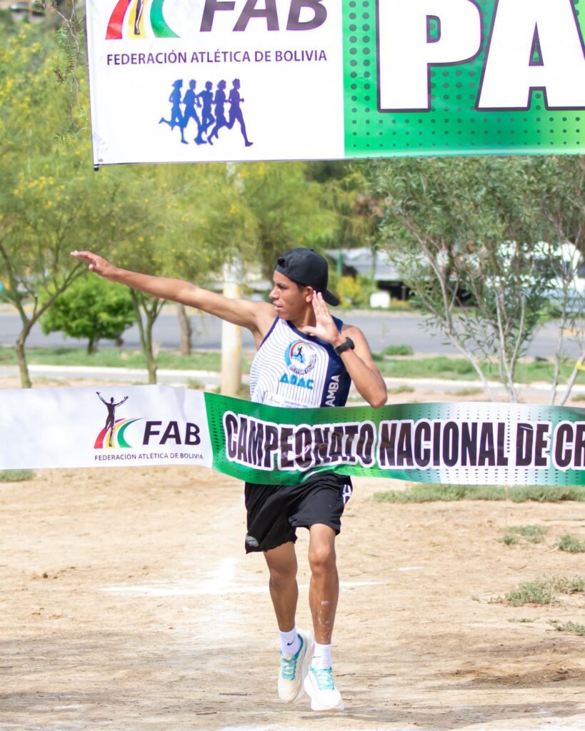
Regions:
M 333 321 L 341 330 L 341 320 Z M 350 384 L 350 374 L 331 344 L 279 317 L 250 368 L 250 398 L 271 406 L 344 406 Z

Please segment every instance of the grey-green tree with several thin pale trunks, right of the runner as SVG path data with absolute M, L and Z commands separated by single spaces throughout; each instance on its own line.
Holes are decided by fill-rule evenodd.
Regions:
M 554 251 L 537 252 L 548 227 L 524 158 L 372 162 L 382 202 L 380 246 L 429 313 L 428 324 L 475 368 L 495 359 L 510 401 L 515 369 L 538 325 Z M 544 265 L 543 265 L 544 262 Z M 473 307 L 461 308 L 467 295 Z

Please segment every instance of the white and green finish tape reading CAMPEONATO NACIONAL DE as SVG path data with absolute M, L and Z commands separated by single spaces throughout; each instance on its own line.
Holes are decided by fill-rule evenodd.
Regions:
M 0 469 L 192 464 L 265 484 L 320 471 L 450 485 L 584 485 L 585 409 L 282 409 L 167 386 L 0 391 Z

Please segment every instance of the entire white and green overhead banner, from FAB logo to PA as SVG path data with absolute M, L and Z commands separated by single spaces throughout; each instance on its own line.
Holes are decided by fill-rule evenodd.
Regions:
M 88 0 L 95 164 L 580 154 L 585 0 Z

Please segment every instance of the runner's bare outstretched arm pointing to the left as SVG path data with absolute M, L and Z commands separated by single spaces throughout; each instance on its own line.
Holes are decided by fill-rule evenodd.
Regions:
M 91 251 L 72 251 L 71 255 L 87 262 L 88 269 L 104 279 L 126 284 L 132 289 L 140 289 L 141 292 L 161 300 L 173 300 L 195 307 L 227 322 L 233 322 L 234 325 L 246 327 L 254 335 L 264 335 L 274 319 L 274 308 L 267 302 L 232 300 L 182 279 L 151 276 L 121 269 Z

